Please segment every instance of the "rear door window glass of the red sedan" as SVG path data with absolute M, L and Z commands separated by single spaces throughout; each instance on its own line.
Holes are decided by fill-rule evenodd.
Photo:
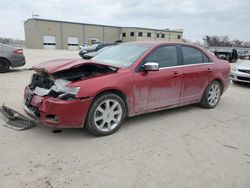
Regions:
M 184 65 L 203 63 L 203 53 L 196 48 L 182 46 Z

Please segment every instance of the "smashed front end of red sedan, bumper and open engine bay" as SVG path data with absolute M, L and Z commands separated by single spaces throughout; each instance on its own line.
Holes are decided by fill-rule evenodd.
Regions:
M 64 66 L 72 63 L 77 61 L 69 61 Z M 36 73 L 32 75 L 30 84 L 24 90 L 25 111 L 50 127 L 83 127 L 94 97 L 82 95 L 77 97 L 81 82 L 114 73 L 118 68 L 86 63 L 81 66 L 72 65 L 73 67 L 64 70 L 61 63 L 60 66 L 57 65 L 59 67 L 54 68 L 51 68 L 53 66 L 50 64 L 59 63 L 48 63 L 35 68 Z M 72 83 L 74 86 L 71 86 Z

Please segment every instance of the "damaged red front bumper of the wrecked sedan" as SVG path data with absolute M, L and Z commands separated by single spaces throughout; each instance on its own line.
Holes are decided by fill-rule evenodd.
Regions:
M 27 100 L 31 90 L 26 87 L 24 98 Z M 24 105 L 28 115 L 39 119 L 44 125 L 56 128 L 81 128 L 93 98 L 59 100 L 51 97 L 33 95 L 30 104 Z

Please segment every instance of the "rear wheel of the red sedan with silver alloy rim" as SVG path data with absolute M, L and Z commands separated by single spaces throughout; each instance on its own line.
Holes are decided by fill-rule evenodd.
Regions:
M 216 80 L 212 81 L 206 88 L 205 93 L 200 102 L 200 106 L 204 108 L 214 108 L 220 101 L 222 87 Z

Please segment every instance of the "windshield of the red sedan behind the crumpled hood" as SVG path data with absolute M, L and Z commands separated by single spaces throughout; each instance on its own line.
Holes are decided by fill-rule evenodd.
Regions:
M 103 51 L 93 60 L 119 67 L 129 67 L 151 47 L 152 44 L 120 44 Z

